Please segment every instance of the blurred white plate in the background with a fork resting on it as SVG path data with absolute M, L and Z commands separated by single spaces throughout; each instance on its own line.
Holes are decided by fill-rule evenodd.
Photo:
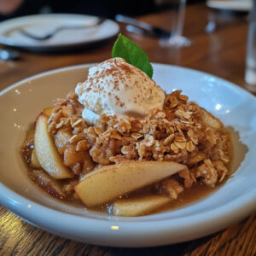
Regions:
M 118 34 L 119 25 L 113 20 L 105 20 L 96 27 L 61 30 L 46 40 L 28 38 L 19 32 L 19 28 L 22 28 L 40 36 L 52 32 L 58 26 L 92 25 L 98 19 L 99 17 L 90 15 L 48 14 L 4 20 L 0 23 L 0 44 L 33 51 L 52 51 L 93 45 Z

